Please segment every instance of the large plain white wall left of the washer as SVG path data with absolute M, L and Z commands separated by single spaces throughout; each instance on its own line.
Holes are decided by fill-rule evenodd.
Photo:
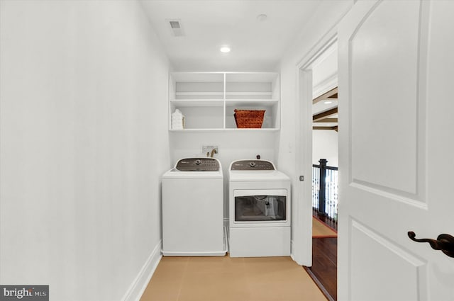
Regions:
M 0 283 L 122 300 L 160 245 L 167 57 L 136 1 L 0 5 Z

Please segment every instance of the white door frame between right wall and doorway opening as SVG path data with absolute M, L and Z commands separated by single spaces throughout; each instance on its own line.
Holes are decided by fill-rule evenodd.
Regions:
M 339 20 L 340 21 L 340 20 Z M 338 21 L 338 22 L 339 22 Z M 312 266 L 312 66 L 337 42 L 337 24 L 316 42 L 296 65 L 297 103 L 296 169 L 304 176 L 295 189 L 293 259 L 301 266 Z M 308 229 L 310 230 L 308 232 Z M 293 249 L 292 248 L 292 249 Z

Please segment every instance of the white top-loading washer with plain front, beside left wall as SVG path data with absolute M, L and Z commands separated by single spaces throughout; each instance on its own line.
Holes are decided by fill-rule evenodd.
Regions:
M 162 255 L 223 256 L 224 237 L 221 163 L 180 159 L 162 176 Z

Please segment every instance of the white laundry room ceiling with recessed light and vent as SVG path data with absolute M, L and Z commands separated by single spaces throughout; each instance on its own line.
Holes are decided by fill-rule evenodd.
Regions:
M 141 0 L 178 71 L 275 71 L 322 0 Z M 261 20 L 260 15 L 266 15 Z M 169 21 L 177 20 L 182 36 Z M 222 45 L 231 52 L 221 53 Z

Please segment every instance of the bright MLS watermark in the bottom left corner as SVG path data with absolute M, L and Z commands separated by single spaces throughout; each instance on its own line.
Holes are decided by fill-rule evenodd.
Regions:
M 0 301 L 49 301 L 49 285 L 0 285 Z

